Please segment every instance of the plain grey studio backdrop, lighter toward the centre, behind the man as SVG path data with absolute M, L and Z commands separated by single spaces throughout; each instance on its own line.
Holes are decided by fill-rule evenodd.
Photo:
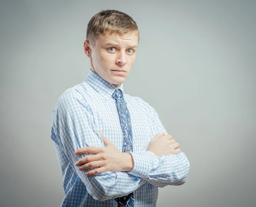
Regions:
M 154 106 L 191 169 L 157 207 L 256 206 L 255 1 L 0 3 L 0 206 L 55 207 L 64 196 L 50 139 L 57 98 L 87 76 L 87 23 L 101 9 L 140 29 L 125 92 Z

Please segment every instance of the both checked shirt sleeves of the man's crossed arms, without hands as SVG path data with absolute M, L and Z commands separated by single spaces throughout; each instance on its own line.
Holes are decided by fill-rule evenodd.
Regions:
M 155 134 L 166 132 L 157 112 L 148 106 L 151 113 Z M 105 147 L 101 135 L 94 124 L 90 106 L 79 92 L 71 91 L 62 95 L 52 112 L 52 140 L 64 150 L 73 170 L 86 185 L 88 193 L 94 199 L 107 199 L 128 195 L 148 182 L 157 187 L 181 185 L 189 173 L 189 161 L 183 152 L 179 154 L 157 156 L 150 151 L 143 153 L 129 152 L 134 166 L 131 172 L 111 171 L 87 176 L 89 169 L 80 171 L 75 163 L 79 159 L 93 155 L 84 153 L 76 155 L 75 150 L 83 147 Z

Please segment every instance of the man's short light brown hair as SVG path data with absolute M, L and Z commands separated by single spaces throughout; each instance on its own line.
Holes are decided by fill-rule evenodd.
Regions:
M 87 25 L 86 39 L 95 46 L 99 34 L 106 32 L 118 35 L 135 32 L 140 40 L 137 23 L 128 14 L 117 10 L 102 10 L 94 14 Z

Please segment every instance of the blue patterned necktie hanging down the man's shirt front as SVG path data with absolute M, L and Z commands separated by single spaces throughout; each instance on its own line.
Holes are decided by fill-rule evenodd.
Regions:
M 131 119 L 125 100 L 122 96 L 122 91 L 117 89 L 113 92 L 112 97 L 116 99 L 116 107 L 119 112 L 119 118 L 121 122 L 122 134 L 123 134 L 123 148 L 122 152 L 132 152 L 132 129 Z M 134 195 L 130 193 L 127 196 L 116 198 L 118 207 L 134 207 Z

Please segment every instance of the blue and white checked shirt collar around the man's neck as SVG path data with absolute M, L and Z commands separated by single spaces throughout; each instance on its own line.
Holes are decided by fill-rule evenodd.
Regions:
M 121 83 L 120 86 L 116 88 L 116 86 L 114 86 L 112 83 L 108 83 L 108 81 L 104 80 L 96 72 L 93 72 L 92 69 L 89 70 L 85 81 L 89 83 L 89 85 L 92 86 L 93 89 L 103 95 L 106 101 L 111 98 L 115 89 L 120 89 L 122 93 L 124 93 L 123 83 Z

